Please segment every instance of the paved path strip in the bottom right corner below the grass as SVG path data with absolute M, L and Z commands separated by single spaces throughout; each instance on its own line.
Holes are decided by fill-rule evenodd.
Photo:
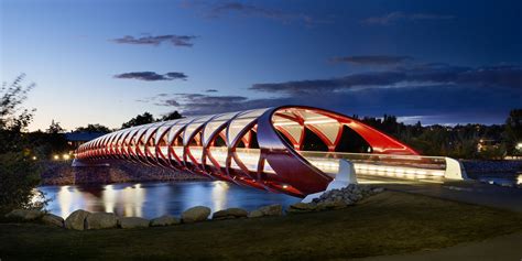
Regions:
M 460 243 L 454 247 L 435 250 L 421 251 L 407 254 L 380 255 L 361 261 L 409 261 L 409 260 L 458 260 L 458 261 L 480 261 L 480 260 L 512 260 L 522 261 L 522 232 L 490 238 L 480 242 Z

